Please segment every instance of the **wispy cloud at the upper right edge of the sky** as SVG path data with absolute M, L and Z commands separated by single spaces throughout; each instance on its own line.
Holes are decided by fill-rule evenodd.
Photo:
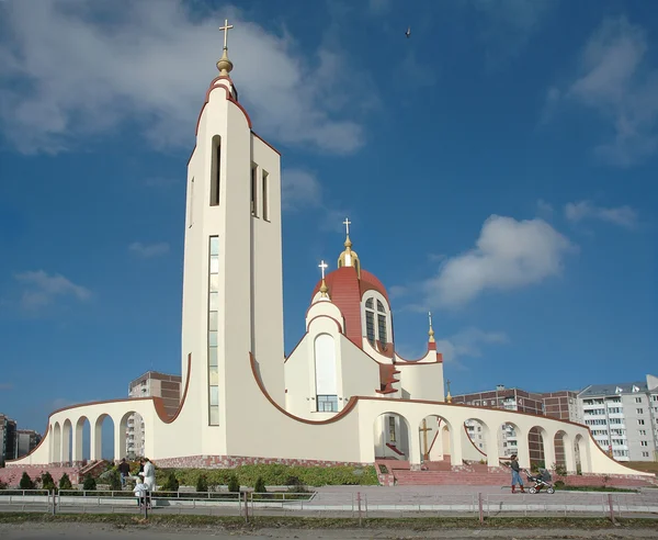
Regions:
M 610 122 L 614 136 L 594 149 L 603 161 L 631 166 L 658 150 L 658 69 L 647 49 L 642 26 L 609 19 L 586 44 L 575 80 L 552 94 L 553 101 L 561 95 Z

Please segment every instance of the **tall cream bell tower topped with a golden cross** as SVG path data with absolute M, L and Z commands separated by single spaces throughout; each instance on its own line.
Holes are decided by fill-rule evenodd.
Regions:
M 188 165 L 182 373 L 185 381 L 191 355 L 185 408 L 197 412 L 200 452 L 209 455 L 231 453 L 241 389 L 253 384 L 249 352 L 270 395 L 284 403 L 281 157 L 238 101 L 230 29 L 228 21 L 220 27 L 219 75 Z

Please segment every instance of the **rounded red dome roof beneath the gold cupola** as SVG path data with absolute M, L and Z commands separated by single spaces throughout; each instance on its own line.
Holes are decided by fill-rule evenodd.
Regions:
M 361 279 L 356 275 L 354 267 L 342 267 L 325 277 L 329 297 L 343 314 L 345 319 L 345 336 L 356 347 L 362 346 L 363 331 L 361 328 L 361 299 L 366 291 L 377 291 L 388 301 L 388 293 L 382 282 L 367 270 L 361 270 Z M 322 280 L 318 281 L 313 297 L 320 290 Z

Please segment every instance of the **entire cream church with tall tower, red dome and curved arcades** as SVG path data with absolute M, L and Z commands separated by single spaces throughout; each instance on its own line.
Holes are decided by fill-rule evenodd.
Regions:
M 8 466 L 76 465 L 83 455 L 100 460 L 107 416 L 120 459 L 136 413 L 144 420 L 146 455 L 159 466 L 398 459 L 411 469 L 432 461 L 497 468 L 506 425 L 514 428 L 523 468 L 530 468 L 527 436 L 534 429 L 548 466 L 560 441 L 568 471 L 643 475 L 601 451 L 586 426 L 451 404 L 431 322 L 426 355 L 400 358 L 387 291 L 362 268 L 349 228 L 338 268 L 325 273 L 321 263 L 305 333 L 286 358 L 281 156 L 254 133 L 238 101 L 226 44 L 217 67 L 188 166 L 179 409 L 170 416 L 158 397 L 59 409 L 49 415 L 42 443 Z M 473 445 L 465 423 L 481 427 L 486 453 Z

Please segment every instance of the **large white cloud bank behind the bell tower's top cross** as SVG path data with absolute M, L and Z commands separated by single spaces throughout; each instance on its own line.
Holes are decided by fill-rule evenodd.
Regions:
M 189 7 L 182 0 L 0 3 L 4 135 L 23 153 L 57 153 L 131 123 L 156 148 L 191 147 L 227 15 L 235 25 L 231 75 L 259 134 L 338 154 L 363 144 L 354 112 L 372 92 L 360 88 L 365 77 L 337 69 L 344 65 L 340 48 L 308 52 L 284 29 L 265 31 L 235 8 L 201 18 Z

